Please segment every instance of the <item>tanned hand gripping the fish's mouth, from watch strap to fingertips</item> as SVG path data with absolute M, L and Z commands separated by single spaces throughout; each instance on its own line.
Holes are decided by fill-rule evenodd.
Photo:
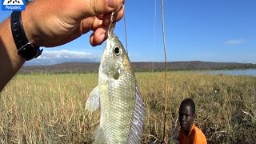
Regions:
M 107 38 L 110 14 L 123 16 L 125 0 L 34 0 L 22 12 L 26 37 L 36 46 L 60 46 L 90 30 L 91 46 Z

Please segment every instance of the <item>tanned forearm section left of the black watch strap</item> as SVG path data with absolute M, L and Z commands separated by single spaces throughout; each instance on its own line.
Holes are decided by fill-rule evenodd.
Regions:
M 10 18 L 0 24 L 0 91 L 24 64 L 10 30 Z

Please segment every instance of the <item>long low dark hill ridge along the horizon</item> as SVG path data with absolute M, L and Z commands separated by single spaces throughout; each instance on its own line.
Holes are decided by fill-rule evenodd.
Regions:
M 165 70 L 165 62 L 131 62 L 134 71 Z M 22 66 L 27 73 L 97 73 L 99 62 L 66 62 L 50 66 Z M 256 64 L 238 62 L 167 62 L 168 70 L 242 70 L 256 69 Z

